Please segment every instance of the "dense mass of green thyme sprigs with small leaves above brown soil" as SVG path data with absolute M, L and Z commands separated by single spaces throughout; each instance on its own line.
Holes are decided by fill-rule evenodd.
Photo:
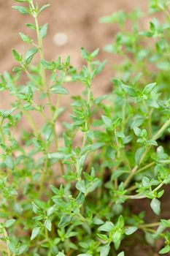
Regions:
M 93 79 L 106 64 L 95 60 L 98 49 L 82 48 L 86 64 L 80 72 L 69 56 L 45 60 L 47 24 L 40 26 L 38 18 L 49 4 L 18 2 L 27 7 L 13 8 L 34 18 L 26 26 L 37 41 L 20 33 L 29 50 L 23 56 L 14 49 L 18 67 L 1 75 L 1 91 L 15 99 L 11 109 L 0 110 L 0 252 L 123 256 L 123 240 L 138 230 L 152 246 L 163 238 L 159 253 L 170 252 L 170 220 L 159 217 L 163 187 L 170 183 L 170 2 L 150 1 L 150 12 L 160 12 L 162 21 L 152 18 L 147 31 L 139 31 L 139 10 L 101 18 L 120 25 L 115 42 L 105 49 L 122 56 L 123 63 L 115 67 L 113 91 L 97 98 Z M 39 56 L 36 65 L 34 56 Z M 82 83 L 84 91 L 72 97 L 72 123 L 64 121 L 59 135 L 61 97 L 69 97 L 66 87 L 72 81 Z M 44 120 L 40 128 L 35 113 Z M 21 118 L 28 129 L 15 139 Z M 144 222 L 144 212 L 134 214 L 128 206 L 129 200 L 144 198 L 158 222 Z

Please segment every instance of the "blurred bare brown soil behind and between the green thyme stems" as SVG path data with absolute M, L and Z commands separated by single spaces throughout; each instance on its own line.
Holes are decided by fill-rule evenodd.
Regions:
M 71 62 L 76 67 L 82 66 L 80 48 L 85 47 L 91 51 L 95 48 L 101 48 L 99 59 L 103 61 L 108 59 L 104 72 L 95 80 L 94 93 L 101 95 L 110 91 L 110 77 L 114 74 L 112 64 L 117 63 L 117 56 L 105 53 L 102 48 L 107 43 L 113 41 L 117 32 L 117 26 L 114 24 L 101 24 L 98 19 L 104 15 L 109 15 L 112 12 L 125 10 L 130 12 L 134 8 L 139 7 L 142 11 L 147 11 L 148 0 L 47 0 L 39 1 L 41 4 L 50 3 L 50 8 L 43 12 L 40 18 L 40 24 L 49 23 L 48 36 L 45 39 L 45 59 L 55 60 L 58 56 L 63 59 L 66 56 L 71 56 Z M 18 33 L 30 34 L 30 30 L 26 28 L 25 23 L 31 23 L 32 19 L 28 15 L 20 15 L 19 12 L 12 10 L 11 6 L 15 5 L 11 0 L 0 0 L 0 73 L 4 70 L 11 71 L 15 66 L 15 60 L 12 57 L 12 48 L 15 48 L 20 53 L 24 53 L 26 45 L 21 41 Z M 144 20 L 147 24 L 147 20 Z M 59 32 L 63 32 L 68 37 L 66 45 L 61 47 L 55 45 L 53 36 Z M 34 31 L 31 31 L 31 37 L 34 37 Z M 78 94 L 81 89 L 79 87 L 69 88 L 71 94 Z M 0 108 L 9 108 L 10 97 L 6 93 L 0 94 Z M 68 99 L 67 99 L 68 102 Z M 69 103 L 69 102 L 68 102 Z M 66 105 L 69 105 L 65 102 Z M 39 120 L 41 124 L 41 120 Z M 21 127 L 26 128 L 26 123 L 23 121 Z M 163 217 L 169 218 L 169 210 L 167 209 L 167 201 L 169 201 L 168 192 L 163 200 Z M 138 202 L 139 203 L 139 202 Z M 150 211 L 149 201 L 142 201 L 140 206 L 133 206 L 134 211 L 146 211 L 147 221 L 157 221 L 152 211 Z M 140 208 L 140 209 L 139 209 Z M 155 219 L 154 219 L 155 218 Z M 136 243 L 126 241 L 125 255 L 128 256 L 156 256 L 156 251 L 160 249 L 151 248 L 144 243 L 143 239 Z M 157 246 L 156 246 L 157 247 Z

